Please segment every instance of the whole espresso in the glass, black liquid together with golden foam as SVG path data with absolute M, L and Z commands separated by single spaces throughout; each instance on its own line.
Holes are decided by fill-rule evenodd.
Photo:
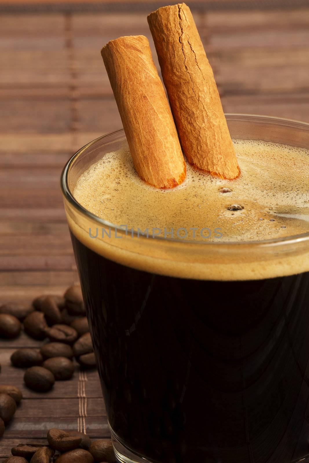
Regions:
M 309 231 L 309 152 L 235 146 L 235 181 L 187 165 L 182 186 L 156 190 L 124 147 L 74 190 L 88 211 L 127 226 L 118 239 L 102 223 L 93 238 L 91 217 L 81 226 L 68 216 L 109 424 L 151 462 L 309 454 L 308 249 L 300 239 L 269 251 L 265 241 Z M 159 228 L 161 238 L 164 228 L 197 230 L 172 241 L 131 228 Z

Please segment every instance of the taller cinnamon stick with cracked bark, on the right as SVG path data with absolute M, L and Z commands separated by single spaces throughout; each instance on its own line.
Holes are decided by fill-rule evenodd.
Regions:
M 147 19 L 189 163 L 220 178 L 238 177 L 240 168 L 214 74 L 189 7 L 164 6 Z

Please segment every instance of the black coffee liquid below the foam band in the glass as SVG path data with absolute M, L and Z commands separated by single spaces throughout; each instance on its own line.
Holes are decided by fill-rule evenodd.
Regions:
M 120 265 L 72 242 L 109 424 L 158 462 L 309 453 L 309 273 L 202 281 Z

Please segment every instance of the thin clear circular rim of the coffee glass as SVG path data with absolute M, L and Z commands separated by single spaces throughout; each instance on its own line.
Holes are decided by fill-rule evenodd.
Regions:
M 281 125 L 289 125 L 289 126 L 296 126 L 298 128 L 302 127 L 305 130 L 309 131 L 309 123 L 303 122 L 303 121 L 298 121 L 295 119 L 287 119 L 287 118 L 280 118 L 276 116 L 265 116 L 265 115 L 259 115 L 259 114 L 246 114 L 246 113 L 225 113 L 226 119 L 255 119 L 255 120 L 260 120 L 260 121 L 267 121 L 269 120 L 270 122 L 280 122 Z M 114 136 L 114 135 L 119 135 L 123 134 L 124 138 L 126 138 L 125 131 L 123 128 L 108 132 L 104 135 L 101 135 L 98 138 L 95 138 L 94 140 L 88 142 L 82 148 L 76 151 L 69 160 L 66 162 L 65 166 L 63 167 L 61 177 L 60 177 L 60 185 L 61 185 L 61 190 L 63 193 L 63 196 L 65 200 L 69 201 L 69 203 L 76 209 L 77 212 L 82 213 L 82 215 L 88 217 L 89 219 L 93 220 L 94 222 L 97 222 L 99 225 L 104 226 L 104 227 L 110 227 L 114 230 L 117 230 L 117 232 L 123 233 L 125 232 L 124 228 L 120 227 L 120 225 L 113 224 L 112 222 L 106 220 L 106 219 L 101 219 L 100 217 L 96 216 L 94 213 L 91 213 L 86 209 L 84 206 L 82 206 L 73 196 L 73 193 L 69 189 L 69 170 L 73 163 L 75 162 L 76 158 L 80 156 L 85 150 L 90 148 L 93 144 L 97 143 L 98 141 L 104 142 L 105 139 Z M 131 233 L 130 233 L 131 234 Z M 133 234 L 135 236 L 138 236 L 138 232 L 136 230 L 133 231 Z M 144 236 L 139 235 L 139 239 L 146 239 Z M 154 240 L 163 240 L 163 241 L 168 241 L 168 242 L 175 242 L 175 243 L 186 243 L 186 244 L 203 244 L 206 246 L 227 246 L 228 248 L 230 247 L 240 247 L 240 246 L 252 246 L 254 248 L 257 247 L 263 247 L 263 246 L 276 246 L 276 245 L 290 245 L 290 244 L 295 244 L 295 243 L 300 243 L 300 242 L 306 242 L 308 241 L 309 243 L 309 232 L 301 233 L 298 235 L 291 235 L 283 238 L 270 238 L 270 239 L 262 239 L 262 240 L 253 240 L 253 241 L 225 241 L 225 242 L 214 242 L 214 241 L 201 241 L 201 240 L 187 240 L 187 239 L 181 239 L 181 238 L 164 238 L 162 236 L 154 236 L 152 239 Z

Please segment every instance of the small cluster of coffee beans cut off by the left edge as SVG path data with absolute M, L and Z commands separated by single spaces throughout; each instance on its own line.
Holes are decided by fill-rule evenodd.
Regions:
M 16 386 L 0 384 L 0 438 L 6 424 L 11 421 L 23 394 Z

